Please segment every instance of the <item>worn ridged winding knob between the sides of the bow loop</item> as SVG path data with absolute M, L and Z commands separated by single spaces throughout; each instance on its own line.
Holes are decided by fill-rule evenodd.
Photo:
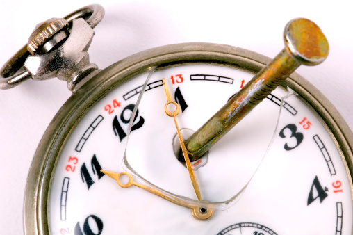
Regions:
M 63 18 L 51 18 L 38 24 L 28 38 L 27 49 L 33 55 L 35 53 L 48 52 L 68 36 L 69 24 Z

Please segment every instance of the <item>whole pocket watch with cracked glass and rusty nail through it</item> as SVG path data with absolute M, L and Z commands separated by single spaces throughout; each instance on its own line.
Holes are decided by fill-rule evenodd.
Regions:
M 58 77 L 72 96 L 33 157 L 25 234 L 352 234 L 353 134 L 294 70 L 329 53 L 309 19 L 270 60 L 172 44 L 99 70 L 90 5 L 38 24 L 0 88 Z

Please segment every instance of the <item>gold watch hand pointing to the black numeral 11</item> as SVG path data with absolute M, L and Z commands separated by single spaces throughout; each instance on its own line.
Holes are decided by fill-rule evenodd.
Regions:
M 132 175 L 129 174 L 128 172 L 121 172 L 119 174 L 115 172 L 110 172 L 108 170 L 101 170 L 101 172 L 104 173 L 105 175 L 108 175 L 108 177 L 115 179 L 115 181 L 117 181 L 117 184 L 122 188 L 129 188 L 130 186 L 134 185 L 134 186 L 137 186 L 138 188 L 142 188 L 143 190 L 149 193 L 153 193 L 158 197 L 162 197 L 163 199 L 170 201 L 174 204 L 191 209 L 192 216 L 197 218 L 197 220 L 208 220 L 213 216 L 213 210 L 211 209 L 204 209 L 201 207 L 190 206 L 187 202 L 183 202 L 183 200 L 179 200 L 177 197 L 169 197 L 165 195 L 165 193 L 158 191 L 156 188 L 151 188 L 143 184 L 138 184 L 137 182 L 133 181 Z M 126 175 L 127 177 L 129 177 L 129 181 L 126 184 L 122 184 L 122 182 L 120 181 L 120 177 L 122 175 Z

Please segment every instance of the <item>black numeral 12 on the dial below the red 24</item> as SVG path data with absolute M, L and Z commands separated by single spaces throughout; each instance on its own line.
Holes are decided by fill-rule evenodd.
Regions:
M 129 124 L 129 122 L 131 120 L 131 114 L 130 114 L 129 119 L 127 119 L 127 120 L 125 118 L 125 115 L 126 115 L 126 112 L 132 113 L 133 108 L 135 108 L 135 104 L 129 104 L 122 111 L 122 114 L 120 115 L 120 120 L 124 124 Z M 133 122 L 136 121 L 137 117 L 138 117 L 138 110 L 136 111 L 136 115 L 135 115 L 135 118 L 133 119 Z M 135 131 L 136 129 L 139 129 L 140 127 L 142 127 L 142 125 L 144 123 L 145 123 L 145 119 L 143 119 L 143 117 L 140 116 L 140 119 L 138 120 L 138 122 L 136 122 L 136 124 L 133 124 L 133 126 L 131 127 L 131 131 Z M 124 129 L 122 129 L 122 125 L 120 124 L 119 120 L 117 119 L 117 116 L 115 116 L 114 120 L 113 120 L 113 131 L 115 133 L 115 136 L 119 136 L 120 142 L 126 137 L 126 133 L 125 133 Z

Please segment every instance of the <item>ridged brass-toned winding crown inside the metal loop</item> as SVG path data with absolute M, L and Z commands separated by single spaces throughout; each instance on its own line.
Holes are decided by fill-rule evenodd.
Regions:
M 40 51 L 40 47 L 42 47 L 46 42 L 49 42 L 49 40 L 51 40 L 54 35 L 56 35 L 56 33 L 59 33 L 62 29 L 66 29 L 67 26 L 68 23 L 63 18 L 51 18 L 48 19 L 46 22 L 38 24 L 31 36 L 28 38 L 28 51 L 32 55 Z M 55 40 L 55 42 L 52 43 L 51 46 L 46 49 L 46 51 L 49 51 L 52 47 L 55 46 L 55 44 L 60 42 L 60 40 L 66 38 L 66 36 L 67 34 L 65 33 L 65 35 L 59 37 L 60 39 Z

